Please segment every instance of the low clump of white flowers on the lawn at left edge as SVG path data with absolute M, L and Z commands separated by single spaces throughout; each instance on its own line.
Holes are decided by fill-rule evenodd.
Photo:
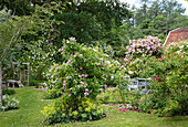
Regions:
M 15 109 L 18 104 L 19 104 L 18 99 L 15 98 L 10 99 L 9 95 L 3 95 L 2 106 L 0 107 L 0 110 L 4 112 L 8 109 Z

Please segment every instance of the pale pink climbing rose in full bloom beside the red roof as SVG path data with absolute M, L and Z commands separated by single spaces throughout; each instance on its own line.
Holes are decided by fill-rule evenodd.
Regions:
M 143 57 L 157 56 L 163 53 L 163 44 L 158 38 L 147 36 L 145 39 L 129 41 L 129 45 L 126 47 L 126 56 L 124 59 L 124 65 L 128 68 L 130 77 L 139 76 L 143 72 L 140 63 L 145 63 Z

